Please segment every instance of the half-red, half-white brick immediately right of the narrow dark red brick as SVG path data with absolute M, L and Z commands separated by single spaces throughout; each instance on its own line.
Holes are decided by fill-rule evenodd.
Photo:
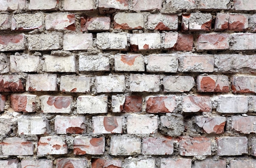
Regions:
M 147 113 L 172 113 L 177 106 L 175 95 L 148 96 L 145 100 Z

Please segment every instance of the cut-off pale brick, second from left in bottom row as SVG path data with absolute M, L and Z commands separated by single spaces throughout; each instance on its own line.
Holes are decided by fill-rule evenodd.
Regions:
M 37 160 L 21 160 L 22 168 L 53 168 L 53 161 L 50 159 L 37 159 Z

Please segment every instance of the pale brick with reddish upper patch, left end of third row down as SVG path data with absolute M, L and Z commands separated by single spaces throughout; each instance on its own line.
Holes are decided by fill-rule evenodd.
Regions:
M 0 35 L 0 51 L 25 50 L 25 35 Z

